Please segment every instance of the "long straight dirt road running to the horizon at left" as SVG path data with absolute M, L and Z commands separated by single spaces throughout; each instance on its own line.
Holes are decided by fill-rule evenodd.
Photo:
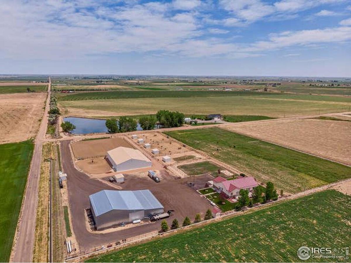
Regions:
M 37 216 L 38 184 L 40 176 L 40 161 L 42 155 L 42 144 L 48 121 L 48 110 L 50 102 L 51 80 L 48 85 L 48 96 L 45 104 L 45 112 L 35 138 L 34 152 L 29 170 L 26 192 L 22 203 L 21 213 L 15 233 L 14 245 L 11 251 L 10 262 L 32 262 L 35 220 Z

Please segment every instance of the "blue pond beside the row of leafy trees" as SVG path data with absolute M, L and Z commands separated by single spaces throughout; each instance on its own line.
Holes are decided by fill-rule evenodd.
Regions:
M 69 121 L 74 124 L 75 129 L 72 131 L 73 134 L 107 133 L 106 120 L 66 117 L 64 121 Z M 137 130 L 143 130 L 139 122 L 137 123 Z

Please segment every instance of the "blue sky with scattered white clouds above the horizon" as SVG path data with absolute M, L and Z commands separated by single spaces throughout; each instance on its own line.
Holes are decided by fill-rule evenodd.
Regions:
M 351 76 L 351 1 L 3 0 L 0 73 Z

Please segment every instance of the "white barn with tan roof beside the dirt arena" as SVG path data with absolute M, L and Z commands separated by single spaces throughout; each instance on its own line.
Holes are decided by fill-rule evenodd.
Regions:
M 115 171 L 150 168 L 152 165 L 151 160 L 139 150 L 122 146 L 107 151 L 106 158 Z

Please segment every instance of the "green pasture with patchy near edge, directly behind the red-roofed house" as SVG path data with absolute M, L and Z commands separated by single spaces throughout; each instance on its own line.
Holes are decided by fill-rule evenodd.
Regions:
M 297 193 L 351 177 L 351 168 L 220 128 L 165 134 L 232 165 L 258 181 Z M 234 147 L 235 146 L 235 147 Z

